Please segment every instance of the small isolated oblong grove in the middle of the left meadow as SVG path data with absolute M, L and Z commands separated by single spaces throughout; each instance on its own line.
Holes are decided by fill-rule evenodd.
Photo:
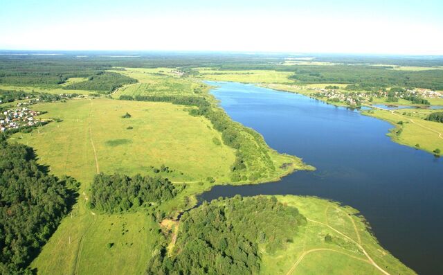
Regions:
M 91 186 L 91 208 L 107 213 L 128 211 L 129 209 L 172 199 L 181 190 L 169 179 L 155 176 L 105 175 L 94 177 Z

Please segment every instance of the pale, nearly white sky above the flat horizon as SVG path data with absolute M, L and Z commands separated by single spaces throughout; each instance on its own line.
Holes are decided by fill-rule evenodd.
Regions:
M 0 0 L 0 49 L 443 55 L 443 1 Z

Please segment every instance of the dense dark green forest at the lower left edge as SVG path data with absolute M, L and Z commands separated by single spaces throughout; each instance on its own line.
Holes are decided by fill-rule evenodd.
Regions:
M 48 175 L 31 148 L 0 139 L 0 274 L 23 274 L 69 211 L 78 183 Z

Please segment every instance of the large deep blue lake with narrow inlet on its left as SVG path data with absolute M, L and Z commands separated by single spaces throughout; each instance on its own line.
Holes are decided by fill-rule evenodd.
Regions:
M 357 110 L 253 85 L 208 84 L 218 86 L 211 92 L 234 121 L 317 170 L 273 183 L 215 186 L 200 199 L 235 194 L 334 199 L 359 209 L 381 245 L 403 263 L 420 274 L 443 274 L 442 158 L 390 141 L 392 125 Z

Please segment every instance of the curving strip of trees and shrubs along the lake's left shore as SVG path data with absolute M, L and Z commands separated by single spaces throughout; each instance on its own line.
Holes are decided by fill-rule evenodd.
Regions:
M 122 95 L 120 100 L 160 101 L 197 107 L 189 109 L 188 112 L 192 116 L 208 118 L 213 123 L 214 129 L 221 132 L 224 144 L 237 150 L 235 163 L 231 166 L 232 181 L 254 181 L 269 176 L 275 171 L 263 137 L 254 130 L 232 121 L 222 109 L 212 107 L 206 98 L 197 96 L 135 96 L 133 98 Z M 248 170 L 253 172 L 246 175 Z

